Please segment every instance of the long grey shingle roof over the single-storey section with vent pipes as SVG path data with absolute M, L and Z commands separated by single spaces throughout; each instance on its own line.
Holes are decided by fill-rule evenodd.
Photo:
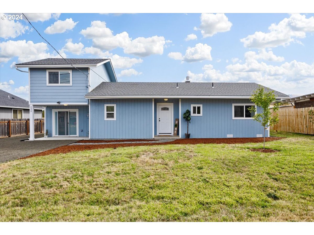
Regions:
M 257 83 L 237 82 L 102 82 L 86 96 L 251 96 Z M 265 87 L 266 88 L 266 87 Z M 270 89 L 272 90 L 272 89 Z M 276 96 L 287 96 L 275 91 Z

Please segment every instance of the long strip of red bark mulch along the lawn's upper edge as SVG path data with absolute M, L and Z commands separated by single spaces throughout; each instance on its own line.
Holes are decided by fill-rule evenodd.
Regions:
M 282 139 L 281 137 L 267 137 L 265 141 L 274 141 Z M 89 140 L 85 140 L 89 141 Z M 118 147 L 130 147 L 130 146 L 149 146 L 149 145 L 165 145 L 165 144 L 245 144 L 245 143 L 260 143 L 263 142 L 263 138 L 200 138 L 200 139 L 176 139 L 170 142 L 158 142 L 158 143 L 129 143 L 129 144 L 90 144 L 90 145 L 65 145 L 55 149 L 50 149 L 37 154 L 33 154 L 20 159 L 45 156 L 49 154 L 65 154 L 74 151 L 92 150 L 92 149 L 106 149 Z M 87 142 L 93 143 L 93 142 Z

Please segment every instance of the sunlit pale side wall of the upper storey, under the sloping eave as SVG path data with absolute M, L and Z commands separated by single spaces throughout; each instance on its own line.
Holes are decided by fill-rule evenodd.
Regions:
M 110 65 L 109 62 L 99 65 L 96 68 L 90 68 L 89 70 L 89 85 L 90 85 L 90 91 L 93 90 L 96 86 L 98 86 L 102 82 L 110 82 L 110 81 L 116 81 L 114 77 L 112 77 L 107 70 L 107 66 Z M 100 75 L 100 76 L 98 76 Z

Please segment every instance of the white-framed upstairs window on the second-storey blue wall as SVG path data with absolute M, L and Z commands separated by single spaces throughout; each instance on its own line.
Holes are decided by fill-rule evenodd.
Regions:
M 72 86 L 72 70 L 47 70 L 47 86 Z

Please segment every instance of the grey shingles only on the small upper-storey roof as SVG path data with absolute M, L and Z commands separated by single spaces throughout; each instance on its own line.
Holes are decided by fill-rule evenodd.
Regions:
M 95 65 L 109 59 L 68 59 L 66 60 L 72 65 Z M 68 65 L 62 58 L 47 58 L 43 60 L 34 60 L 16 65 Z

